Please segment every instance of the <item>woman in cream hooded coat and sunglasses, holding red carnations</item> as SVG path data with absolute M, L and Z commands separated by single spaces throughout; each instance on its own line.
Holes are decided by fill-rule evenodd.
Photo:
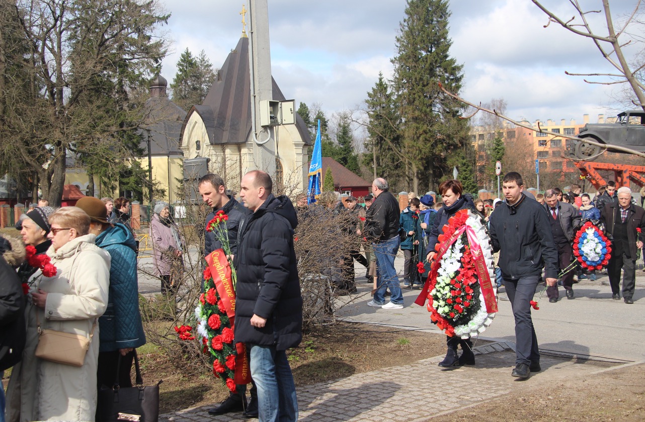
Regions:
M 27 344 L 23 361 L 12 370 L 7 388 L 6 420 L 94 421 L 99 326 L 82 367 L 34 356 L 41 328 L 90 337 L 108 303 L 110 255 L 88 234 L 90 217 L 81 208 L 59 208 L 49 216 L 52 227 L 47 251 L 57 272 L 32 276 L 27 308 Z

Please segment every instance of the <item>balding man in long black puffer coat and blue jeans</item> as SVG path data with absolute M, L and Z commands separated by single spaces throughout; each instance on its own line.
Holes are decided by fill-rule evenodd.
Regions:
M 285 350 L 303 338 L 293 231 L 293 204 L 272 194 L 271 177 L 260 170 L 241 181 L 240 196 L 253 215 L 244 225 L 235 256 L 235 341 L 250 350 L 261 421 L 296 421 L 298 403 Z

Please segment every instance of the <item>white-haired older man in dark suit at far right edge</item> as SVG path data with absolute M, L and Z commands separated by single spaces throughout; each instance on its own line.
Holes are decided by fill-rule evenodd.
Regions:
M 625 303 L 634 303 L 636 284 L 636 257 L 643 247 L 645 210 L 631 203 L 631 190 L 622 186 L 618 190 L 618 203 L 606 203 L 600 213 L 607 234 L 613 237 L 611 258 L 607 266 L 612 298 L 620 299 L 620 268 L 623 269 L 622 297 Z M 639 232 L 640 229 L 640 232 Z

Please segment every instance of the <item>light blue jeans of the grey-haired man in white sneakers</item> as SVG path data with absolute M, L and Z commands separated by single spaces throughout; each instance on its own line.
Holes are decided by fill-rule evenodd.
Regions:
M 374 255 L 376 256 L 377 288 L 374 293 L 374 302 L 385 304 L 385 290 L 389 287 L 392 297 L 390 301 L 397 305 L 403 304 L 403 294 L 397 270 L 394 269 L 394 258 L 397 256 L 401 238 L 393 237 L 382 242 L 372 243 Z

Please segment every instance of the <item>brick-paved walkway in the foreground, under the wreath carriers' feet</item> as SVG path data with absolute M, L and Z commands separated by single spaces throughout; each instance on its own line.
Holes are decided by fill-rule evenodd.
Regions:
M 559 379 L 583 377 L 616 366 L 569 357 L 542 356 L 542 372 L 528 381 L 510 376 L 515 366 L 513 344 L 506 342 L 475 348 L 477 365 L 455 370 L 437 366 L 443 356 L 405 365 L 355 374 L 350 377 L 297 388 L 299 421 L 425 421 L 482 403 L 518 388 Z M 464 390 L 464 385 L 479 386 Z M 455 399 L 456 398 L 456 399 Z M 165 414 L 159 421 L 246 421 L 241 413 L 208 415 L 210 406 Z

